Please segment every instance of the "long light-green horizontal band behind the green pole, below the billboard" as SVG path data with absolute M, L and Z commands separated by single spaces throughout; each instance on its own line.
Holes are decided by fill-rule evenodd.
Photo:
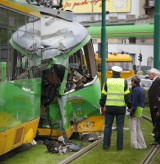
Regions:
M 88 32 L 92 38 L 101 38 L 101 26 L 90 26 Z M 117 37 L 153 37 L 154 25 L 114 25 L 106 26 L 106 36 L 108 38 Z

